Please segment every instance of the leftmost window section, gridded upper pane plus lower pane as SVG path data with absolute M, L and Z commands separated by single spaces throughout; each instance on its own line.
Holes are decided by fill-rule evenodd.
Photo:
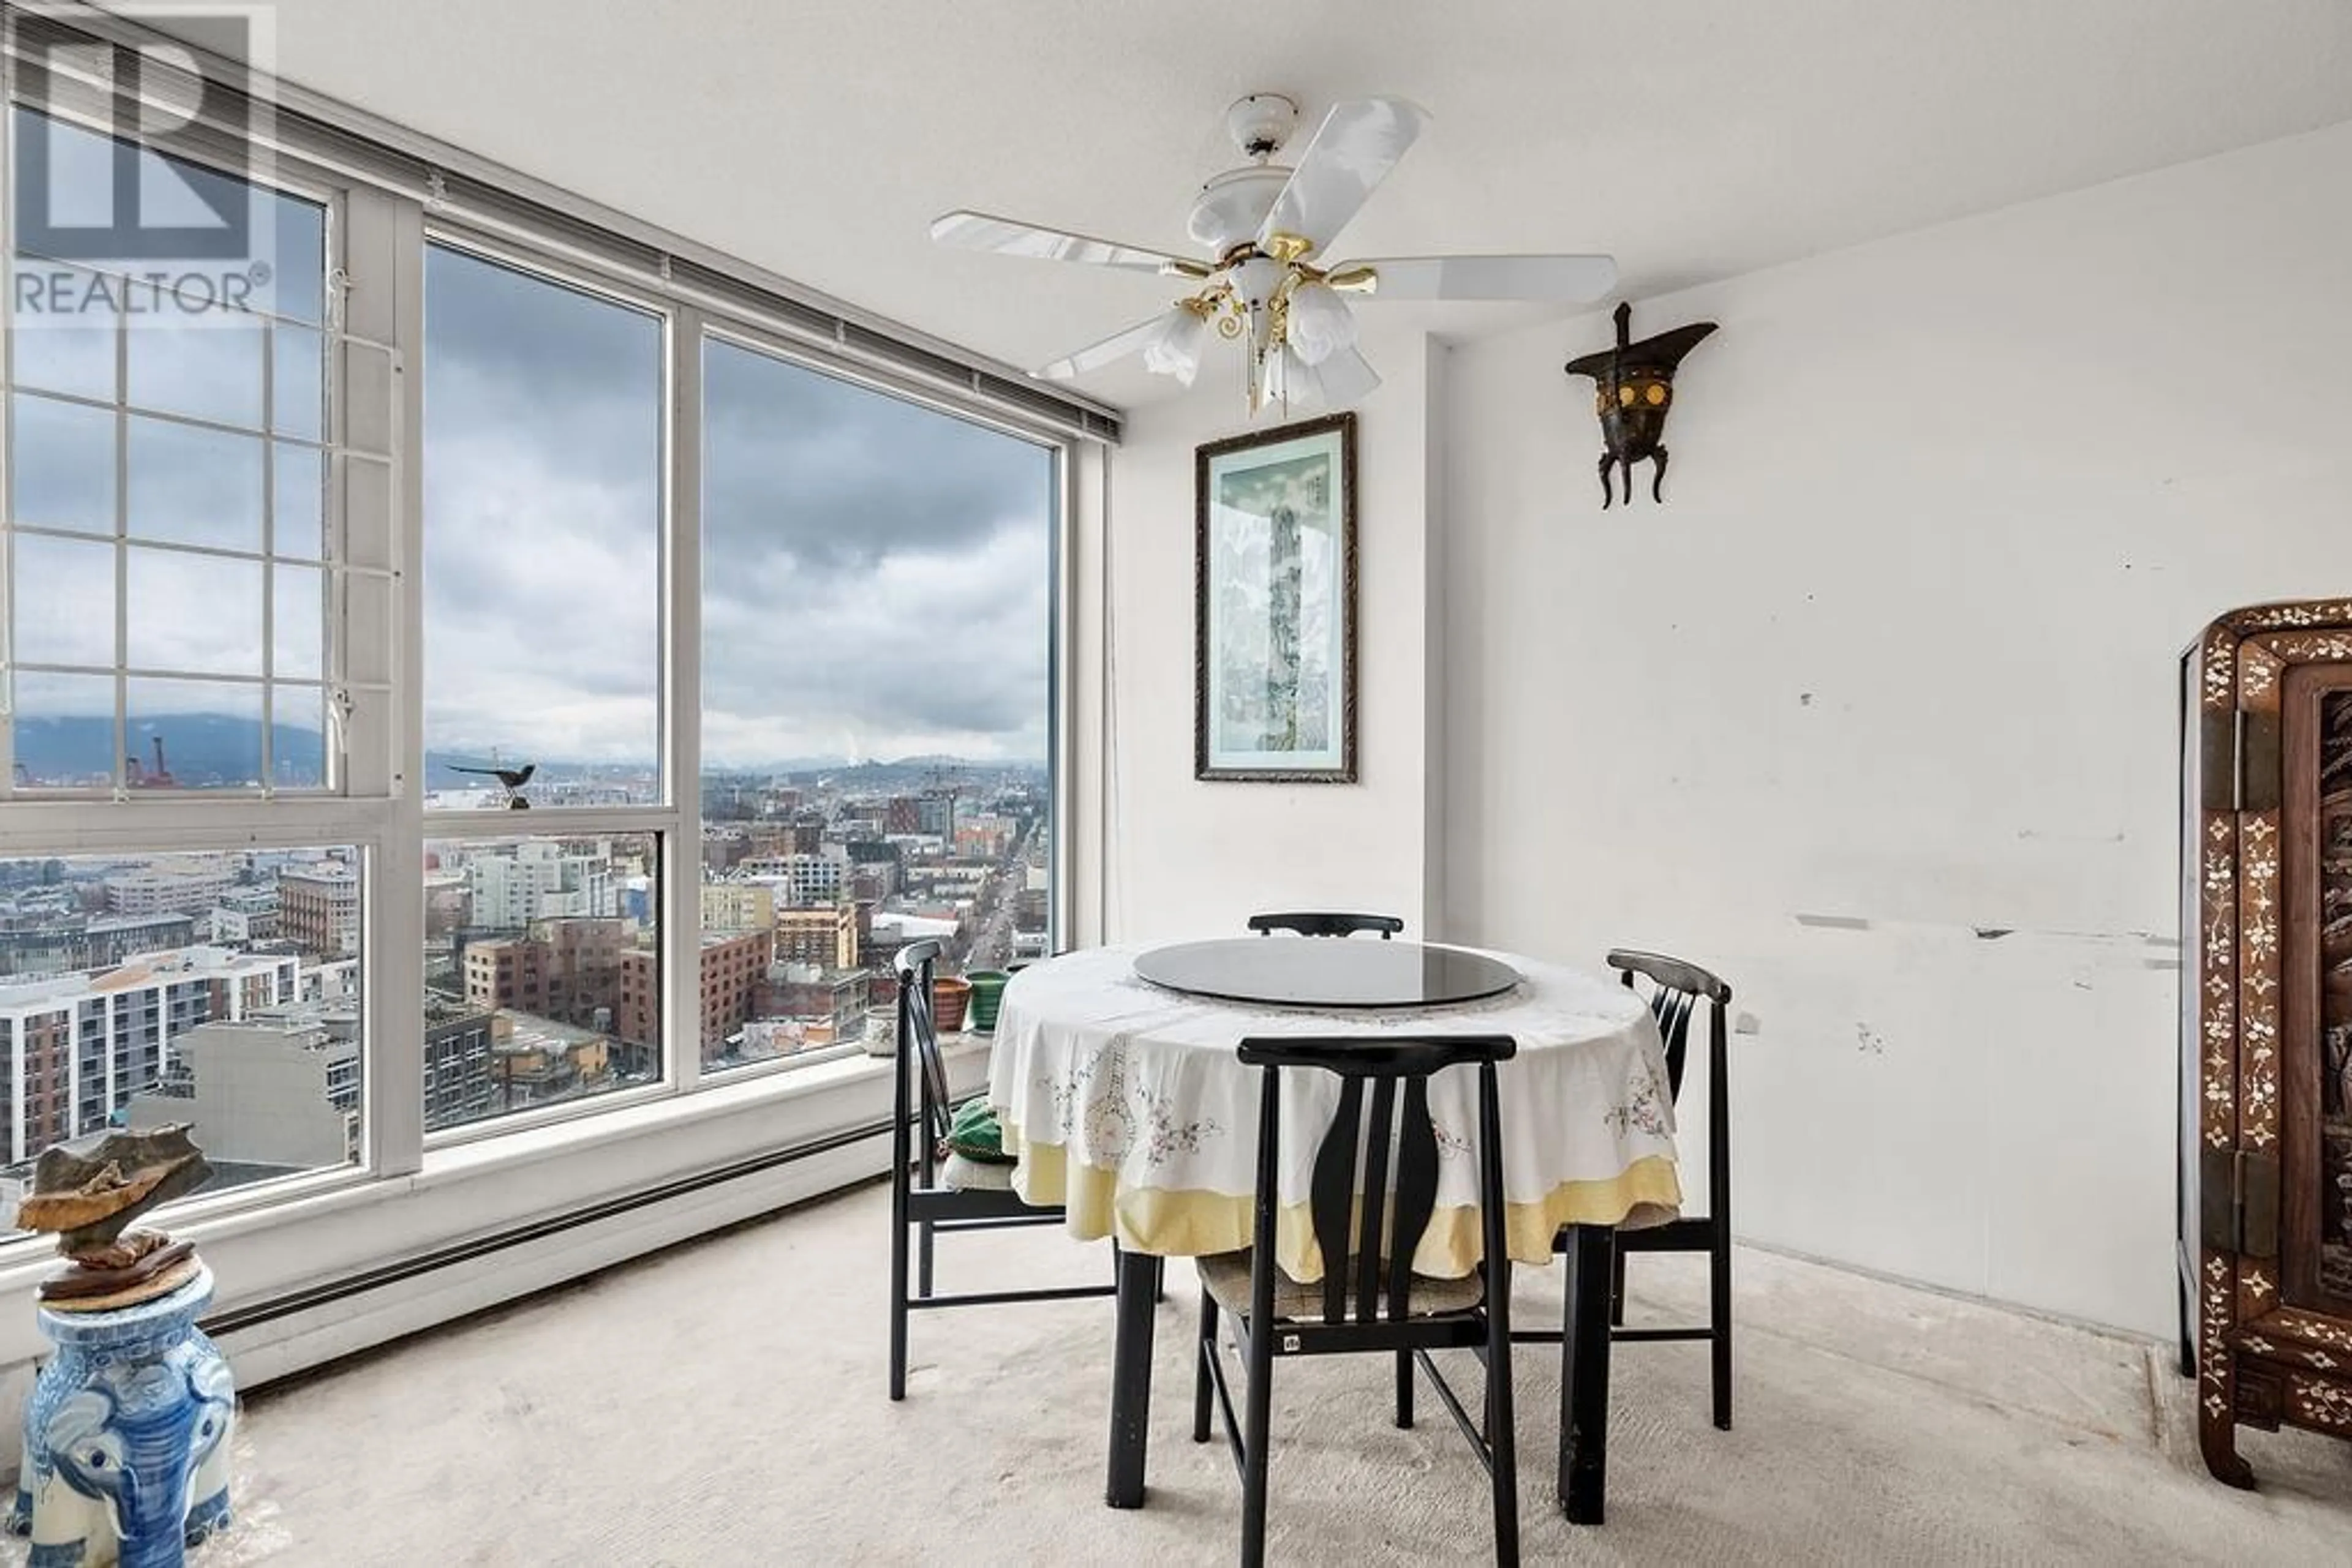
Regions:
M 207 1150 L 207 1194 L 358 1166 L 381 806 L 332 799 L 355 562 L 329 200 L 28 108 L 5 129 L 0 1199 L 52 1143 L 167 1121 Z M 247 212 L 263 256 L 235 296 L 26 240 L 106 216 L 122 158 Z M 381 409 L 388 357 L 367 374 Z M 360 458 L 376 517 L 383 458 Z

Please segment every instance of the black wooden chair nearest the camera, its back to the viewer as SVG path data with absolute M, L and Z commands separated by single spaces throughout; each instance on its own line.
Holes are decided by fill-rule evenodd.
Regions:
M 1242 1472 L 1244 1568 L 1265 1561 L 1265 1460 L 1275 1361 L 1345 1352 L 1397 1356 L 1399 1427 L 1414 1425 L 1414 1363 L 1421 1363 L 1494 1483 L 1496 1561 L 1519 1561 L 1517 1446 L 1510 1406 L 1510 1253 L 1503 1244 L 1503 1114 L 1494 1074 L 1494 1065 L 1515 1053 L 1517 1041 L 1508 1034 L 1242 1041 L 1242 1063 L 1265 1070 L 1258 1095 L 1256 1229 L 1249 1251 L 1200 1260 L 1192 1441 L 1209 1441 L 1214 1396 Z M 1428 1086 L 1432 1074 L 1454 1065 L 1475 1065 L 1479 1074 L 1479 1218 L 1486 1262 L 1468 1279 L 1430 1279 L 1414 1274 L 1406 1260 L 1437 1206 L 1437 1133 L 1430 1126 Z M 1319 1286 L 1298 1284 L 1275 1260 L 1282 1074 L 1289 1070 L 1331 1072 L 1341 1079 L 1338 1114 L 1315 1154 L 1308 1194 L 1324 1260 Z M 1367 1084 L 1371 1119 L 1369 1133 L 1359 1135 Z M 1395 1192 L 1388 1182 L 1390 1145 L 1397 1152 Z M 1357 1204 L 1359 1222 L 1350 1218 Z M 1381 1258 L 1383 1229 L 1390 1237 L 1388 1262 Z M 1218 1354 L 1218 1307 L 1232 1314 L 1249 1380 L 1240 1420 Z M 1479 1422 L 1470 1420 L 1430 1361 L 1430 1352 L 1444 1347 L 1475 1349 L 1486 1363 Z

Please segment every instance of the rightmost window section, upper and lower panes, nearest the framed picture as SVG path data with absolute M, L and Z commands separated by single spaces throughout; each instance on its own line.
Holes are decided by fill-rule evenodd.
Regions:
M 703 348 L 703 1060 L 1047 945 L 1054 451 Z M 731 980 L 764 969 L 750 987 Z

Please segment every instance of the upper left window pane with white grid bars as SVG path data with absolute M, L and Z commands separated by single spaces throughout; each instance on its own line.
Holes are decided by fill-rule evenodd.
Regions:
M 12 132 L 45 190 L 111 179 L 106 136 L 28 110 Z M 329 783 L 325 207 L 160 162 L 252 197 L 275 266 L 235 306 L 158 310 L 118 273 L 12 252 L 12 792 Z

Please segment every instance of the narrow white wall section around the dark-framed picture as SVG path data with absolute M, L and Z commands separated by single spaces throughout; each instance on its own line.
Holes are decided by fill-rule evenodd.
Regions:
M 1237 378 L 1218 374 L 1232 367 L 1216 357 L 1192 395 L 1127 423 L 1108 503 L 1108 940 L 1240 933 L 1254 910 L 1270 907 L 1381 910 L 1416 931 L 1430 922 L 1437 783 L 1423 741 L 1437 651 L 1425 595 L 1439 578 L 1425 557 L 1430 388 L 1442 383 L 1444 348 L 1390 331 L 1367 336 L 1364 350 L 1385 381 L 1357 409 L 1355 785 L 1192 778 L 1192 449 L 1249 423 Z M 1103 541 L 1089 536 L 1080 548 L 1101 550 Z M 1098 557 L 1080 569 L 1082 597 L 1098 599 L 1089 571 L 1101 571 Z M 1080 745 L 1084 776 L 1101 766 L 1098 719 L 1082 717 Z

